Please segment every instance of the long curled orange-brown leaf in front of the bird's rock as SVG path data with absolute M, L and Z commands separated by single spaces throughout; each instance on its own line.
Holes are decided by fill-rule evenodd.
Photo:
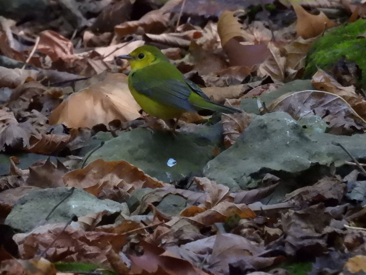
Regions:
M 65 186 L 78 187 L 98 195 L 101 191 L 118 187 L 131 193 L 138 188 L 170 186 L 158 181 L 127 161 L 96 159 L 85 168 L 73 170 L 63 176 Z

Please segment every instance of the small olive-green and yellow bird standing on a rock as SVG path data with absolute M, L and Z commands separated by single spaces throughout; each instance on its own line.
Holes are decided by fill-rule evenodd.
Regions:
M 208 109 L 224 114 L 242 111 L 213 102 L 193 81 L 170 63 L 167 56 L 157 47 L 143 45 L 128 55 L 131 67 L 128 88 L 145 113 L 162 120 L 176 119 L 172 128 L 175 132 L 180 116 L 185 112 L 197 113 Z

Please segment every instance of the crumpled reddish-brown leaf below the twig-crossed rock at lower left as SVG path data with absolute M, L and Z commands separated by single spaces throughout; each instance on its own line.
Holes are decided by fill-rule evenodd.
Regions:
M 14 241 L 19 246 L 22 258 L 33 258 L 39 251 L 53 244 L 47 250 L 50 261 L 77 261 L 81 263 L 100 263 L 111 267 L 113 261 L 122 261 L 118 253 L 126 244 L 126 237 L 106 232 L 88 232 L 65 224 L 47 224 L 37 227 L 28 234 L 15 234 Z M 55 241 L 53 243 L 53 241 Z M 118 256 L 115 259 L 114 256 Z

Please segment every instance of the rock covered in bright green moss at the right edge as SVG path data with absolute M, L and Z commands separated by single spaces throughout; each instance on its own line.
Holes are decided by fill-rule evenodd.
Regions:
M 347 26 L 338 27 L 319 38 L 311 47 L 306 58 L 304 78 L 311 78 L 317 72 L 330 69 L 338 60 L 346 57 L 362 70 L 358 85 L 366 88 L 366 20 L 358 20 Z

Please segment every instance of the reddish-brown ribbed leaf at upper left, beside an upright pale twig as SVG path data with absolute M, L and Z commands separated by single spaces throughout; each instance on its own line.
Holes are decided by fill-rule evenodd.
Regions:
M 53 30 L 45 30 L 40 33 L 37 49 L 48 55 L 53 62 L 61 59 L 66 63 L 71 63 L 76 59 L 80 59 L 74 55 L 72 42 Z

